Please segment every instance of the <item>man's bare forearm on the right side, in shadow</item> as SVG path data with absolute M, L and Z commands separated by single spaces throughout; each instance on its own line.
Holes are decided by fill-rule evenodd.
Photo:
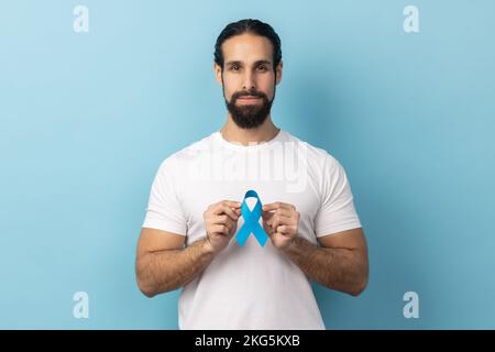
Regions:
M 367 264 L 355 250 L 319 248 L 295 238 L 282 251 L 306 275 L 328 288 L 356 296 L 366 286 Z

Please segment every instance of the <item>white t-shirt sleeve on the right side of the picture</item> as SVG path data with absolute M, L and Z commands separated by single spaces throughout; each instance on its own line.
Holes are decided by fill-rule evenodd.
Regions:
M 361 228 L 351 186 L 342 165 L 326 153 L 320 183 L 320 208 L 315 217 L 317 238 Z

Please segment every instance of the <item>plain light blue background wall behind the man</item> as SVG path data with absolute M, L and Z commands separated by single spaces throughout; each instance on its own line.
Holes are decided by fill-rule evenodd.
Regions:
M 213 44 L 243 18 L 282 37 L 275 123 L 343 164 L 367 237 L 362 296 L 316 286 L 327 327 L 495 328 L 491 0 L 2 1 L 0 328 L 177 328 L 135 245 L 160 163 L 224 122 Z

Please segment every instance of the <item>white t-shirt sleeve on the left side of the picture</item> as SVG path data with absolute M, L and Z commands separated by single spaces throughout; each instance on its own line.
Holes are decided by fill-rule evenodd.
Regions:
M 175 165 L 172 156 L 161 164 L 151 188 L 143 228 L 186 235 L 187 221 L 174 182 Z

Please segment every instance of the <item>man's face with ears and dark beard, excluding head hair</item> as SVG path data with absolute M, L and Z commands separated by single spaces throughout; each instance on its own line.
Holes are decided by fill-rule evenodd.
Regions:
M 222 44 L 223 70 L 215 66 L 227 109 L 242 129 L 261 125 L 270 114 L 282 63 L 275 75 L 272 43 L 264 36 L 241 34 Z

